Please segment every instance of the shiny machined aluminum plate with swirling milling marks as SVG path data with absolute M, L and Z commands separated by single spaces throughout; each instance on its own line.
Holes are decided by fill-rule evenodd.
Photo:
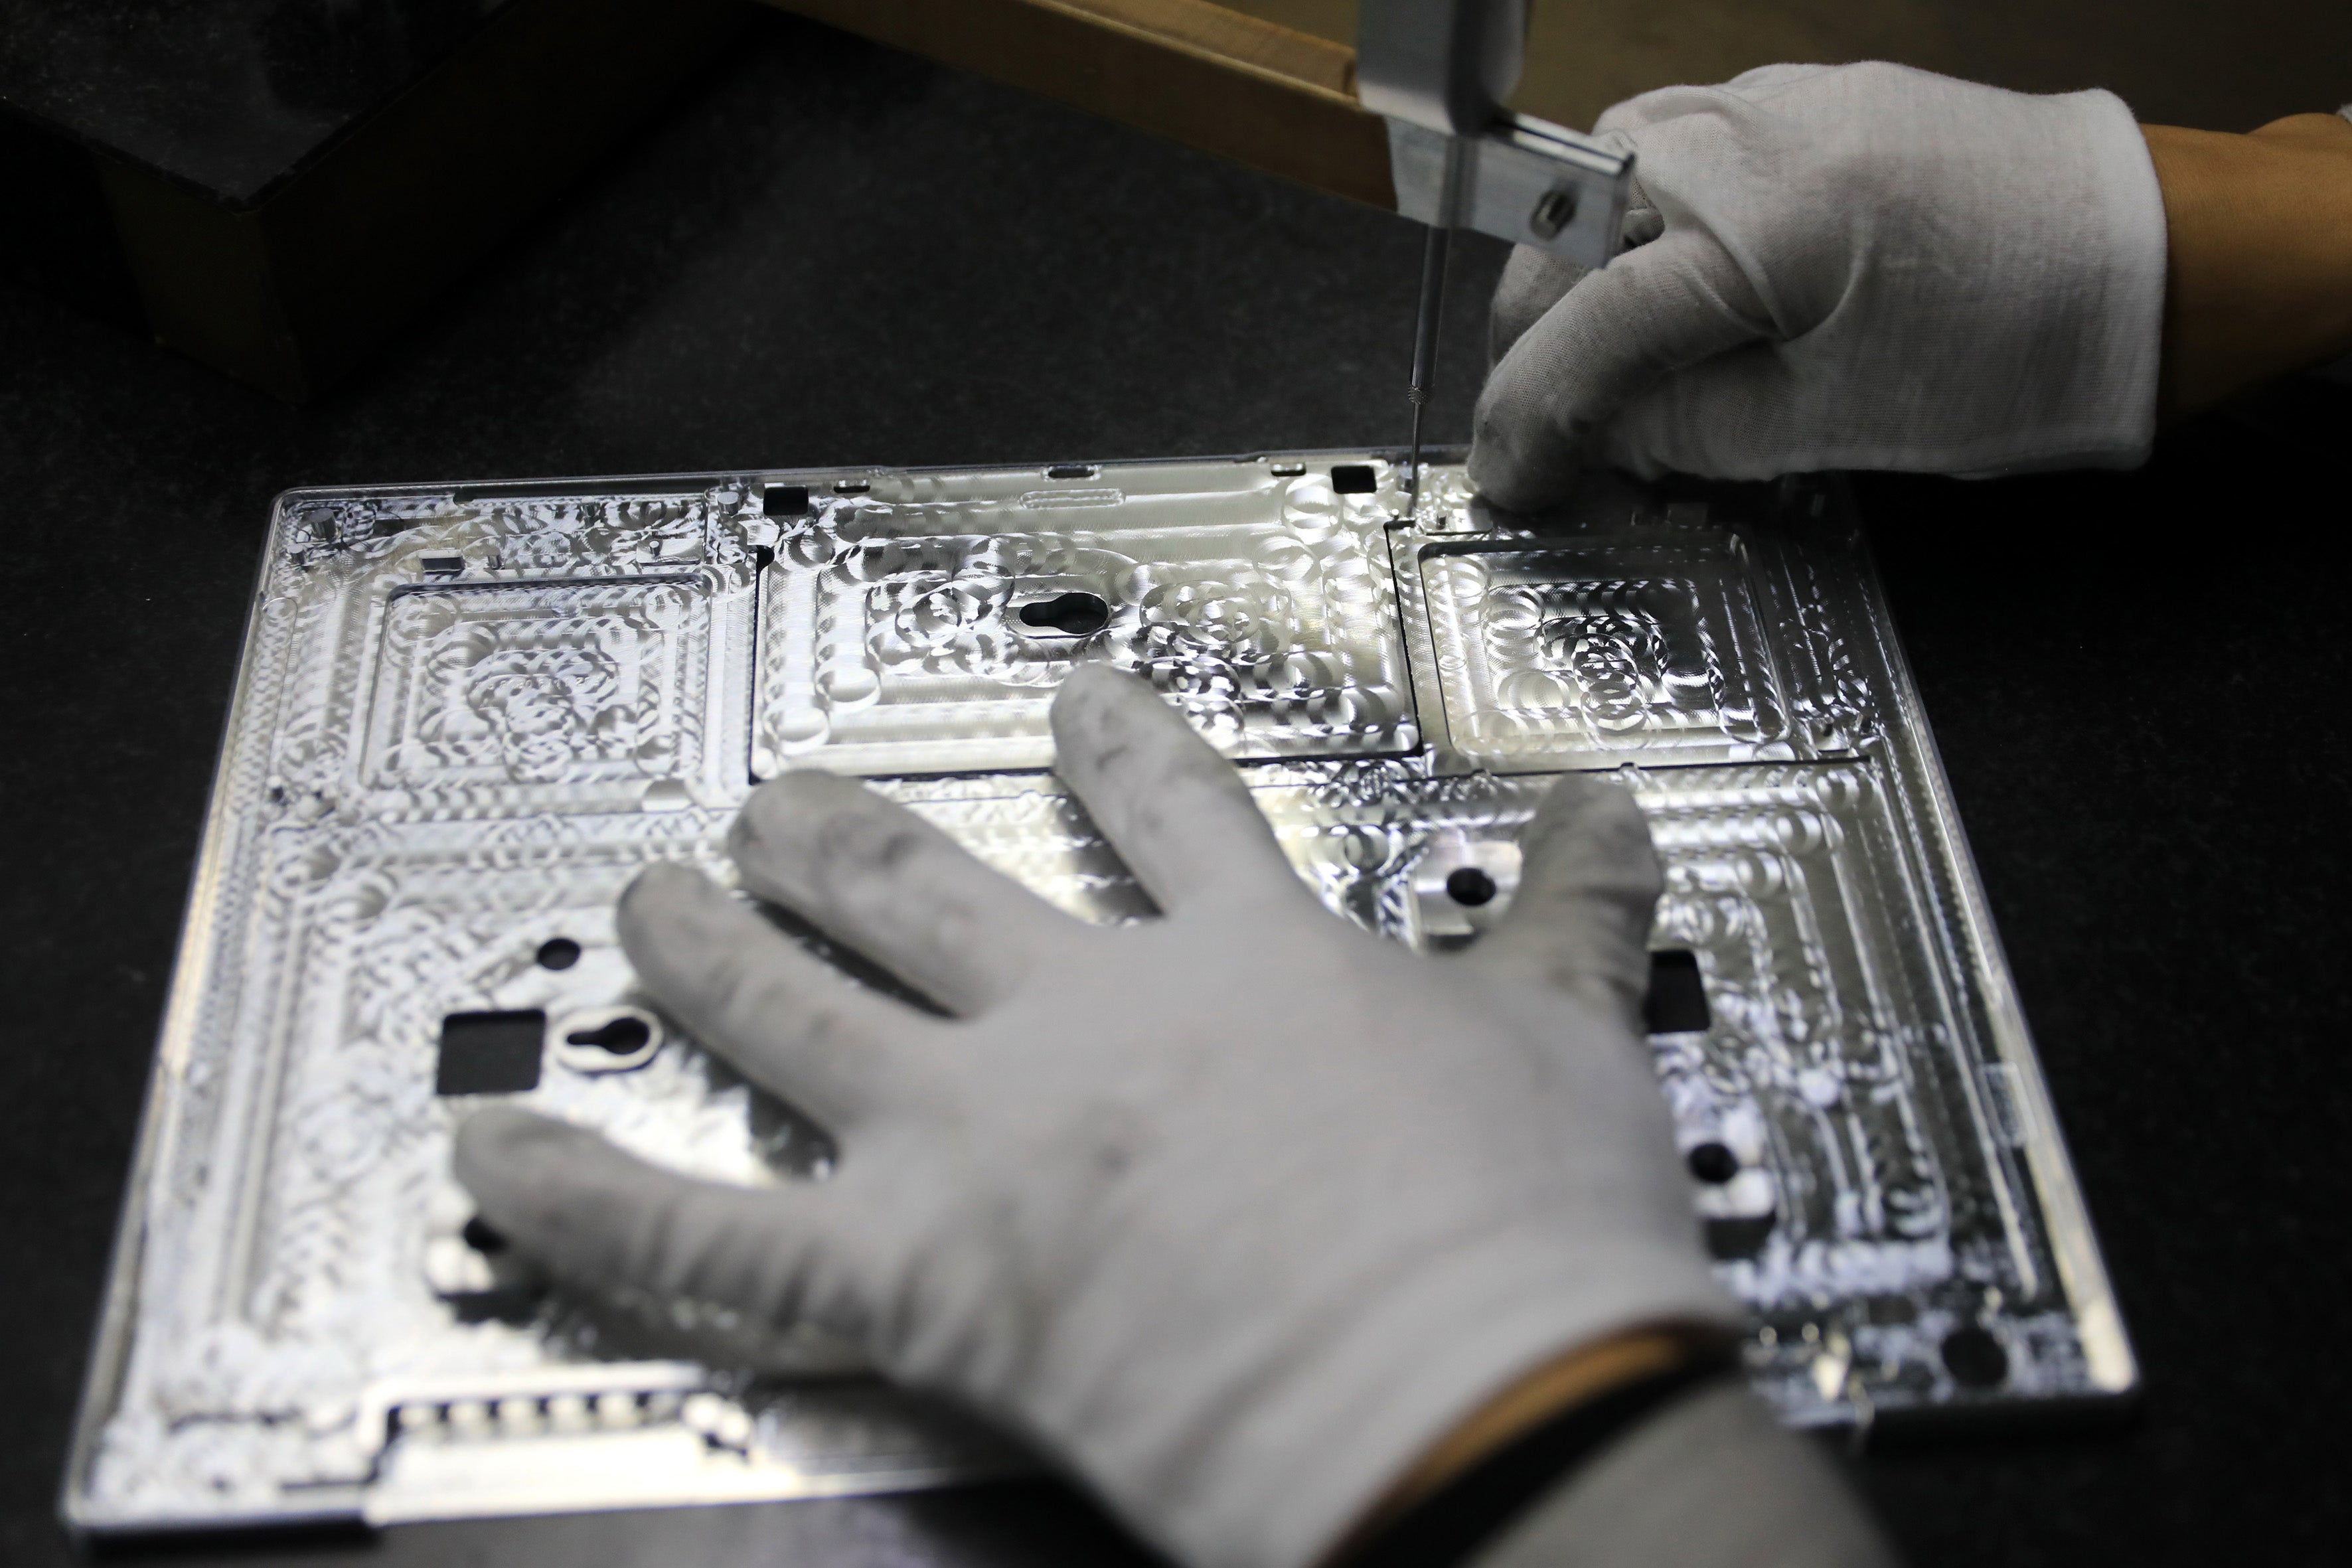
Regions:
M 1562 771 L 1668 870 L 1658 1084 L 1755 1387 L 1870 1429 L 2136 1382 L 1842 489 L 1517 520 L 1381 454 L 289 491 L 99 1331 L 87 1530 L 804 1497 L 1018 1469 L 821 1333 L 550 1291 L 468 1225 L 503 1093 L 743 1182 L 821 1128 L 637 990 L 612 905 L 727 875 L 760 778 L 868 778 L 1063 907 L 1150 903 L 1061 792 L 1145 675 L 1343 917 L 1461 947 Z M 1432 1041 L 1442 1048 L 1444 1041 Z

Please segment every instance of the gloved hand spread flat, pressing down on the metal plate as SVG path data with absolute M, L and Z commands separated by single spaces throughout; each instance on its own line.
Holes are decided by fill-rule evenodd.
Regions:
M 1623 790 L 1562 783 L 1508 919 L 1425 961 L 1329 914 L 1150 686 L 1073 672 L 1054 738 L 1162 919 L 1075 922 L 854 780 L 774 780 L 743 884 L 953 1018 L 649 870 L 640 978 L 837 1171 L 710 1185 L 485 1110 L 456 1154 L 485 1218 L 562 1276 L 854 1335 L 1202 1566 L 1317 1559 L 1559 1352 L 1738 1324 L 1632 1025 L 1661 884 Z

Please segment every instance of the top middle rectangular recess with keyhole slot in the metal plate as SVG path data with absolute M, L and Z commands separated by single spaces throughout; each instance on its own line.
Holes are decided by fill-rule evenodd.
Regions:
M 1141 675 L 1240 759 L 1418 745 L 1376 496 L 1230 463 L 1087 477 L 924 475 L 786 529 L 760 574 L 753 773 L 1047 766 L 1082 663 Z

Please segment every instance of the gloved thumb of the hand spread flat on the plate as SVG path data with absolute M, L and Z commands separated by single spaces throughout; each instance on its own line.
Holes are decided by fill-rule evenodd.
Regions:
M 1465 961 L 1555 985 L 1639 1034 L 1663 886 L 1632 792 L 1569 773 L 1519 835 L 1519 891 Z

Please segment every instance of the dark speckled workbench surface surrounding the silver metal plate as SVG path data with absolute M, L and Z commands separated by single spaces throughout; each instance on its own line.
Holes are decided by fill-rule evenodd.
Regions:
M 1468 254 L 1437 430 L 1461 440 Z M 774 21 L 430 327 L 294 411 L 0 292 L 0 1559 L 52 1523 L 259 529 L 289 484 L 1395 440 L 1418 233 Z M 2147 1368 L 2133 1425 L 1872 1455 L 1926 1563 L 2340 1561 L 2352 397 L 2138 475 L 1863 503 Z M 2331 423 L 2328 423 L 2331 421 Z M 2333 435 L 2333 440 L 2328 440 Z M 174 1561 L 1141 1561 L 1047 1483 Z

